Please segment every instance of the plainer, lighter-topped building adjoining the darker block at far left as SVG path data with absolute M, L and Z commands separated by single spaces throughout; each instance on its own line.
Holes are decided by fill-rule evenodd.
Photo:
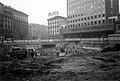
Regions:
M 16 9 L 13 9 L 14 39 L 28 39 L 28 15 Z

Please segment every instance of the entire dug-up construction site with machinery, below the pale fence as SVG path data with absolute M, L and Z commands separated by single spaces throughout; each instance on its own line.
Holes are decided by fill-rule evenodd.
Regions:
M 0 81 L 120 80 L 119 44 L 87 48 L 67 43 L 36 51 L 9 51 L 1 44 L 0 49 Z

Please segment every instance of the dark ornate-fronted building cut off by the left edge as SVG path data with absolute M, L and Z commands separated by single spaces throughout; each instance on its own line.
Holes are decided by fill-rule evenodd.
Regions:
M 0 36 L 13 38 L 13 13 L 10 6 L 0 3 Z

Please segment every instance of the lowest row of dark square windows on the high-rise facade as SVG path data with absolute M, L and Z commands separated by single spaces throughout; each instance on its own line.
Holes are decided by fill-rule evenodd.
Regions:
M 79 23 L 79 24 L 71 23 L 71 25 L 68 25 L 68 27 L 80 27 L 80 26 L 87 26 L 87 25 L 94 25 L 94 24 L 101 24 L 101 23 L 105 23 L 105 20 L 84 22 L 84 23 Z M 70 23 L 68 23 L 68 24 L 70 24 Z

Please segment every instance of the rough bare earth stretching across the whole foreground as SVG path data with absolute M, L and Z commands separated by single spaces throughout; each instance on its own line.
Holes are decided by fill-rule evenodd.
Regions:
M 120 52 L 0 62 L 0 81 L 119 81 Z

